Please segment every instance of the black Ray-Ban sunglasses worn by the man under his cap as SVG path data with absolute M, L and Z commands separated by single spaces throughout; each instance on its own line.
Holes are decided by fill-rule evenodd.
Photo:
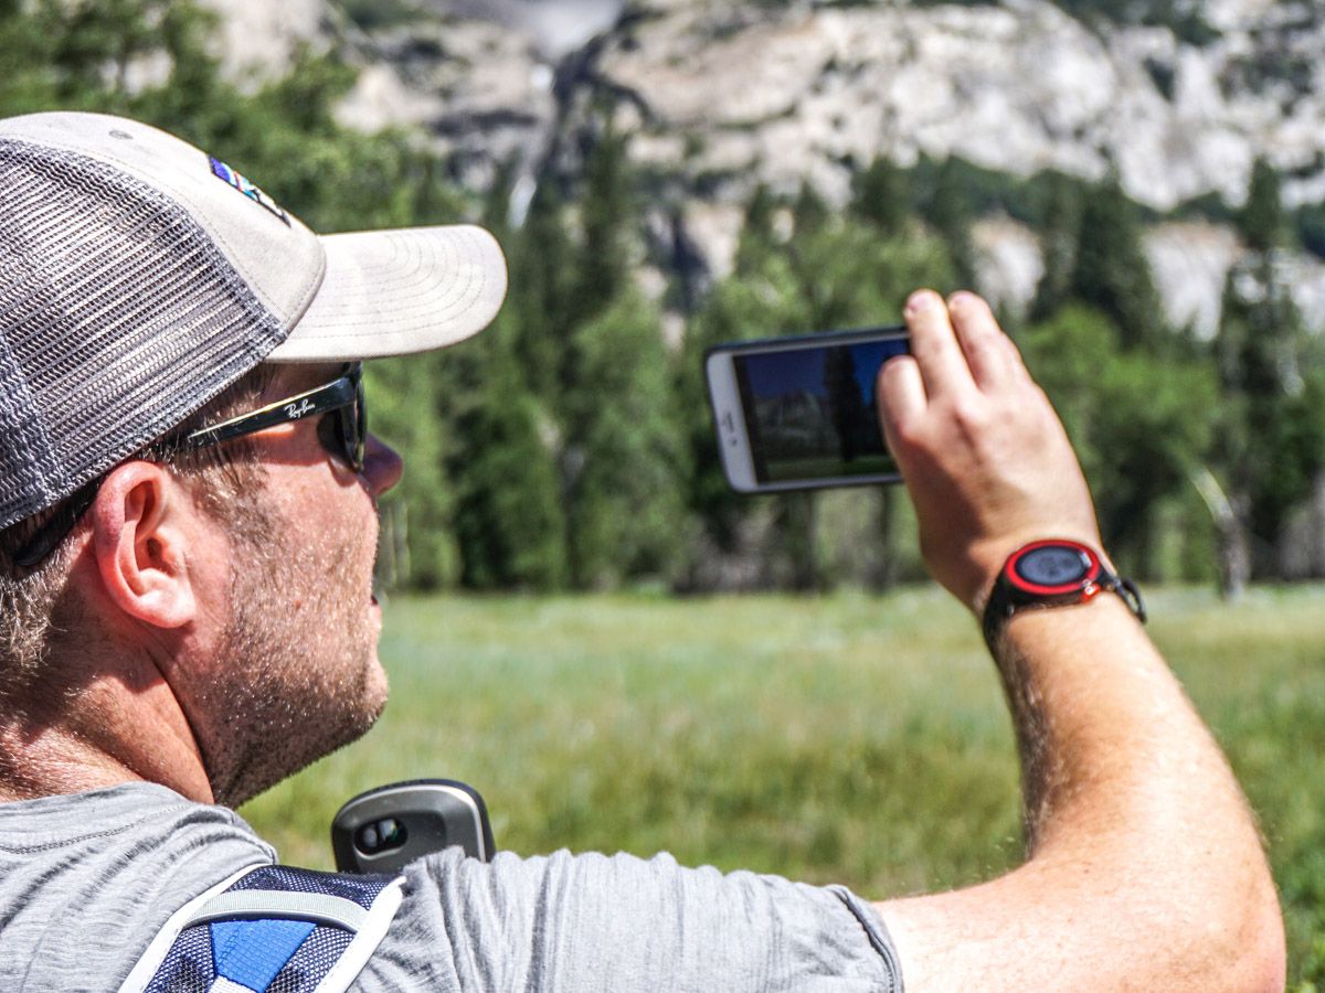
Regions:
M 196 451 L 241 438 L 245 434 L 256 434 L 278 424 L 302 421 L 309 417 L 321 417 L 318 442 L 327 454 L 341 459 L 355 473 L 362 473 L 363 453 L 368 438 L 368 412 L 363 399 L 362 363 L 346 367 L 344 375 L 331 383 L 314 387 L 285 400 L 277 400 L 257 410 L 231 417 L 228 421 L 189 432 L 175 438 L 174 444 L 184 450 Z M 99 475 L 74 491 L 46 526 L 15 552 L 15 565 L 30 569 L 50 555 L 56 545 L 65 539 L 65 535 L 73 531 L 78 518 L 97 499 L 97 491 L 105 478 L 105 475 Z

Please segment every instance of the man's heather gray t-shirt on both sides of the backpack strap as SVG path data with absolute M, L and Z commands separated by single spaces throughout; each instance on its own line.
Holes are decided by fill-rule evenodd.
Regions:
M 232 810 L 152 784 L 0 804 L 0 990 L 114 990 L 175 910 L 274 859 Z M 840 887 L 454 849 L 405 879 L 360 993 L 901 990 L 882 922 Z

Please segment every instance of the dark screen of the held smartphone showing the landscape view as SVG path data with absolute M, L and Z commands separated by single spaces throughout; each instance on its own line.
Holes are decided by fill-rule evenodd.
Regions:
M 897 471 L 878 428 L 878 368 L 905 338 L 731 356 L 759 483 Z

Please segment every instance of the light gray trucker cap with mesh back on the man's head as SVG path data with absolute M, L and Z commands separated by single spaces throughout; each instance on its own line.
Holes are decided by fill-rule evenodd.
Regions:
M 319 237 L 154 127 L 0 120 L 0 527 L 70 495 L 260 361 L 453 344 L 506 293 L 468 225 Z

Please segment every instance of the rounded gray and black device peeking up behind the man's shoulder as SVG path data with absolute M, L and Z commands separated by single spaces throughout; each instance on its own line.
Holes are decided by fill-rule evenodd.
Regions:
M 411 780 L 370 789 L 331 820 L 331 851 L 342 873 L 399 873 L 416 858 L 458 845 L 488 862 L 497 846 L 488 805 L 456 780 Z

